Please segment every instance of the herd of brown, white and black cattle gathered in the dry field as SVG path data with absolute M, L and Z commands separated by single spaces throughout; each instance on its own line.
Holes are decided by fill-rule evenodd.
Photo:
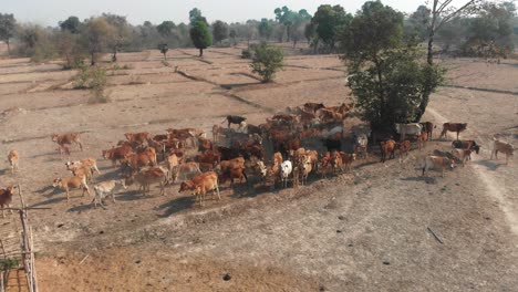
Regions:
M 429 122 L 395 124 L 397 135 L 371 132 L 366 125 L 356 125 L 350 133 L 345 132 L 343 121 L 352 107 L 352 104 L 327 107 L 321 103 L 307 103 L 301 107 L 288 108 L 288 114 L 267 118 L 265 124 L 258 126 L 248 124 L 246 117 L 230 115 L 222 122 L 227 122 L 227 127 L 214 125 L 213 139 L 198 128 L 169 128 L 158 135 L 126 133 L 125 140 L 102 152 L 103 158 L 111 160 L 113 167 L 118 165 L 120 179 L 95 184 L 92 202 L 95 207 L 100 205 L 105 208 L 105 197 L 111 196 L 115 202 L 114 192 L 135 182 L 144 195 L 151 191 L 152 185 L 159 185 L 160 195 L 164 195 L 167 185 L 182 180 L 179 192 L 195 195 L 195 204 L 199 202 L 200 206 L 208 191 L 213 197 L 217 194 L 220 199 L 219 186 L 230 181 L 232 187 L 236 179 L 240 184 L 248 182 L 250 175 L 271 188 L 278 185 L 286 188 L 290 182 L 297 188 L 299 184 L 307 184 L 311 174 L 319 173 L 325 178 L 330 174 L 350 171 L 354 160 L 367 159 L 369 152 L 376 150 L 377 146 L 382 163 L 395 158 L 396 152 L 401 161 L 402 156 L 408 155 L 412 142 L 416 142 L 421 150 L 433 138 L 435 126 Z M 431 168 L 441 169 L 444 176 L 446 168 L 454 168 L 457 163 L 464 166 L 470 159 L 472 152 L 479 153 L 480 146 L 475 140 L 458 139 L 459 133 L 466 128 L 467 124 L 443 125 L 439 138 L 446 137 L 447 132 L 454 132 L 457 139 L 452 144 L 452 152 L 436 149 L 425 157 L 423 176 Z M 393 136 L 398 136 L 398 142 Z M 349 152 L 342 150 L 345 137 L 353 140 Z M 308 145 L 311 139 L 318 140 L 320 147 L 310 149 Z M 70 156 L 72 144 L 83 150 L 80 134 L 76 133 L 52 135 L 52 140 L 58 144 L 62 157 Z M 507 164 L 514 147 L 495 139 L 491 159 L 499 152 L 506 154 Z M 17 150 L 9 153 L 12 173 L 18 170 L 19 159 Z M 65 166 L 72 176 L 55 178 L 53 187 L 64 189 L 68 201 L 71 189 L 82 189 L 83 196 L 85 192 L 92 195 L 89 184 L 95 173 L 100 174 L 96 159 L 68 161 Z M 14 188 L 0 189 L 2 216 L 3 207 L 10 206 Z

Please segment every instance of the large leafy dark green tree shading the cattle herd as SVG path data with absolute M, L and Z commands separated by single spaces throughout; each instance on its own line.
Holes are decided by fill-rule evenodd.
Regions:
M 403 38 L 403 14 L 367 1 L 341 38 L 349 86 L 362 117 L 375 128 L 421 117 L 425 84 L 435 90 L 443 70 L 419 62 L 416 43 Z

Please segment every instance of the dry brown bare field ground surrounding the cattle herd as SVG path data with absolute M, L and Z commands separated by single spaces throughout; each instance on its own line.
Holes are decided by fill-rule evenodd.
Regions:
M 0 60 L 0 153 L 22 156 L 21 173 L 6 163 L 0 184 L 20 182 L 30 206 L 51 208 L 30 213 L 42 291 L 516 291 L 518 161 L 489 160 L 495 134 L 518 145 L 514 61 L 444 61 L 450 84 L 434 94 L 425 119 L 467 122 L 462 137 L 483 145 L 445 178 L 416 169 L 426 153 L 450 147 L 434 140 L 402 165 L 373 157 L 298 190 L 226 186 L 222 200 L 204 208 L 177 185 L 166 196 L 131 188 L 106 210 L 80 191 L 68 205 L 50 187 L 68 175 L 53 133 L 83 133 L 85 150 L 73 148 L 72 158 L 99 158 L 101 181 L 117 175 L 101 150 L 126 132 L 208 131 L 228 114 L 259 124 L 287 106 L 349 98 L 335 55 L 290 55 L 276 83 L 260 84 L 239 48 L 196 53 L 173 50 L 169 65 L 157 51 L 121 54 L 131 69 L 108 72 L 112 102 L 101 105 L 70 90 L 74 72 L 56 62 Z M 2 222 L 2 230 L 15 225 Z

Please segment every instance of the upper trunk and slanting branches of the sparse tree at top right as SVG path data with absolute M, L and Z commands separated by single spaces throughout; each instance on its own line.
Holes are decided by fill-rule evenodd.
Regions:
M 429 0 L 432 2 L 432 22 L 428 27 L 428 64 L 433 64 L 433 45 L 435 33 L 446 23 L 462 15 L 469 15 L 477 11 L 483 0 L 468 0 L 456 8 L 452 4 L 454 0 Z M 429 1 L 427 4 L 429 4 Z

